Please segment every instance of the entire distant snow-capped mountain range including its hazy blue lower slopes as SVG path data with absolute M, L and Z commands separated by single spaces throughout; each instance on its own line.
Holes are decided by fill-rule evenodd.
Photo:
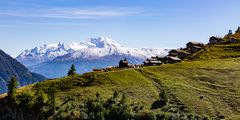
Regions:
M 25 50 L 17 56 L 16 59 L 34 72 L 39 72 L 48 77 L 59 77 L 63 75 L 49 75 L 51 72 L 42 73 L 41 68 L 44 65 L 51 66 L 50 64 L 56 63 L 58 63 L 58 65 L 66 63 L 78 64 L 84 61 L 84 63 L 88 65 L 83 65 L 84 67 L 81 66 L 83 70 L 79 72 L 82 73 L 91 71 L 94 66 L 89 66 L 89 64 L 94 61 L 98 61 L 99 64 L 101 64 L 95 67 L 117 65 L 118 61 L 122 58 L 128 58 L 133 64 L 140 64 L 151 56 L 165 56 L 168 51 L 168 49 L 160 48 L 126 48 L 108 37 L 98 37 L 89 38 L 83 42 L 72 42 L 70 44 L 45 44 L 40 47 Z M 89 62 L 86 63 L 87 61 Z M 49 66 L 47 67 L 48 70 Z M 65 72 L 66 68 L 63 70 Z

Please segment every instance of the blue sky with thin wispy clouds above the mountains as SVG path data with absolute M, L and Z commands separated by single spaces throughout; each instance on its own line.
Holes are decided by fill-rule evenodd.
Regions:
M 0 49 L 108 36 L 126 47 L 184 47 L 240 26 L 240 0 L 1 0 Z

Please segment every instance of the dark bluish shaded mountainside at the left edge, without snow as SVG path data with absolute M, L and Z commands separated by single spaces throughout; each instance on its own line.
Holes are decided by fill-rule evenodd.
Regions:
M 31 73 L 24 65 L 0 50 L 0 93 L 7 92 L 7 84 L 16 76 L 20 86 L 45 80 L 42 75 Z

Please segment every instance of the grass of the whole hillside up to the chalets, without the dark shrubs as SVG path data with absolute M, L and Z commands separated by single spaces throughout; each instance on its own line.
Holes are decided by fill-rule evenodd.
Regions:
M 75 75 L 73 79 L 64 77 L 47 80 L 20 88 L 19 97 L 14 105 L 6 102 L 6 95 L 0 96 L 0 106 L 3 106 L 0 113 L 2 115 L 11 113 L 9 114 L 11 116 L 16 114 L 15 111 L 4 110 L 16 109 L 23 113 L 22 116 L 28 113 L 26 117 L 28 119 L 36 114 L 41 115 L 42 111 L 50 110 L 50 104 L 46 101 L 51 99 L 52 93 L 49 91 L 54 89 L 56 113 L 47 114 L 51 119 L 59 116 L 61 118 L 70 116 L 76 119 L 82 115 L 79 112 L 81 111 L 79 106 L 87 104 L 91 99 L 96 99 L 93 100 L 95 101 L 93 104 L 103 107 L 107 101 L 113 99 L 113 94 L 118 92 L 120 96 L 127 96 L 127 103 L 131 105 L 126 110 L 131 114 L 135 111 L 133 106 L 138 105 L 141 108 L 139 113 L 149 113 L 148 116 L 157 116 L 152 115 L 153 113 L 164 114 L 169 119 L 173 119 L 174 117 L 171 117 L 173 115 L 175 118 L 183 116 L 184 119 L 193 119 L 193 116 L 195 118 L 199 116 L 202 119 L 207 116 L 211 119 L 237 120 L 240 119 L 239 51 L 240 43 L 206 45 L 203 50 L 177 64 L 86 73 Z M 35 103 L 39 100 L 35 97 L 38 95 L 36 93 L 39 88 L 44 91 L 44 97 L 41 99 L 45 102 L 41 104 Z M 164 98 L 162 93 L 166 95 L 167 105 L 159 103 Z M 101 100 L 99 100 L 100 95 Z M 103 102 L 104 100 L 107 101 Z M 121 101 L 118 103 L 115 100 L 115 103 L 122 106 Z M 35 104 L 38 106 L 36 107 Z M 40 107 L 39 112 L 39 106 L 44 104 L 47 107 L 44 109 Z M 116 105 L 113 108 L 115 109 Z M 109 110 L 108 108 L 98 109 L 98 111 L 104 109 L 104 114 Z M 121 111 L 121 109 L 115 111 Z M 33 116 L 28 111 L 32 111 Z

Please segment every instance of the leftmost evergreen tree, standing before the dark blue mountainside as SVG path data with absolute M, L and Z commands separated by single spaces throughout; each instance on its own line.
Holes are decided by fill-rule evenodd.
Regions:
M 15 98 L 18 82 L 16 77 L 12 77 L 8 84 L 8 96 L 10 98 Z

